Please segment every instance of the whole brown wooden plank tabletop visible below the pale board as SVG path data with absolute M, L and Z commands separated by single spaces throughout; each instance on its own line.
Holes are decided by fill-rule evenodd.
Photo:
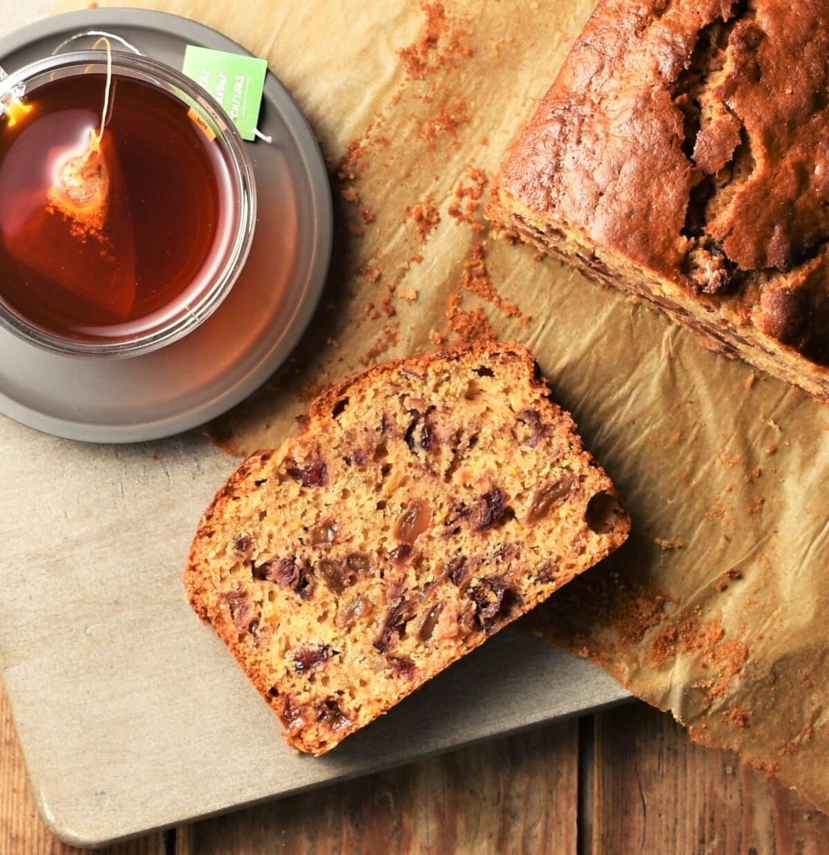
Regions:
M 79 852 L 40 823 L 4 694 L 0 740 L 0 855 Z M 636 703 L 104 852 L 808 855 L 829 817 Z

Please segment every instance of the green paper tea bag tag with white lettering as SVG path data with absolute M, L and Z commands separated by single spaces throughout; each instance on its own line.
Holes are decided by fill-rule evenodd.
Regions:
M 256 138 L 267 60 L 188 44 L 181 70 L 215 97 L 242 139 Z

